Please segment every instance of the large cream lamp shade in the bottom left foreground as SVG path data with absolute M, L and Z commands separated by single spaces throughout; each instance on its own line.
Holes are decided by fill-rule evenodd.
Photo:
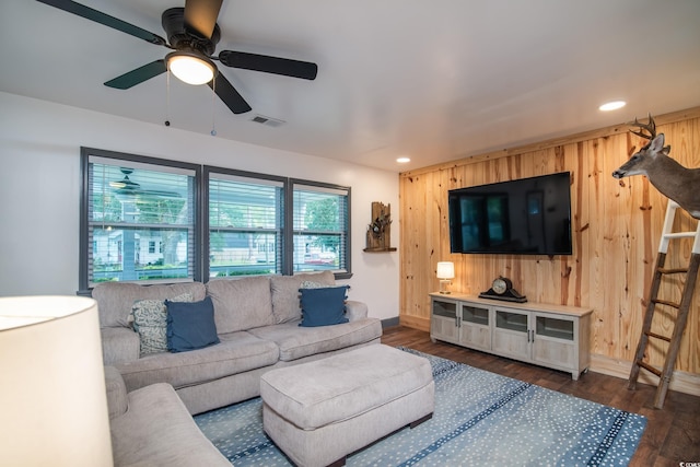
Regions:
M 113 465 L 94 300 L 0 299 L 0 465 Z

